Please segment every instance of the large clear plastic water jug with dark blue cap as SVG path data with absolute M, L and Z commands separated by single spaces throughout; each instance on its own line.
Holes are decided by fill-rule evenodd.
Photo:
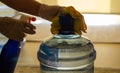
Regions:
M 92 42 L 74 33 L 74 19 L 69 14 L 61 14 L 59 23 L 59 33 L 40 45 L 40 73 L 94 73 Z

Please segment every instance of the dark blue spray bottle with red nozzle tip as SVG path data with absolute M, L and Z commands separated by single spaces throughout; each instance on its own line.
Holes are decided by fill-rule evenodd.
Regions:
M 27 18 L 27 22 L 30 23 L 30 21 L 35 21 L 35 18 Z M 20 51 L 25 41 L 25 38 L 21 42 L 9 39 L 3 46 L 0 54 L 0 73 L 14 73 Z

